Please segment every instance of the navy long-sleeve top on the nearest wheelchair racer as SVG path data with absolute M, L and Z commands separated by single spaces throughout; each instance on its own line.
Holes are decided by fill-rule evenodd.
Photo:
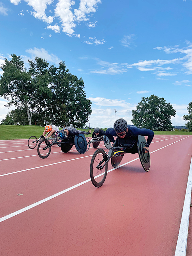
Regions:
M 128 125 L 127 128 L 128 128 L 128 132 L 123 139 L 136 137 L 138 135 L 147 136 L 146 147 L 149 147 L 149 145 L 151 144 L 151 141 L 154 137 L 154 131 L 145 129 L 145 128 L 140 129 L 136 126 L 131 126 L 131 125 Z M 113 137 L 117 137 L 117 133 L 115 132 L 114 128 L 108 128 L 106 130 L 106 133 L 107 133 L 107 137 L 114 143 L 115 140 Z

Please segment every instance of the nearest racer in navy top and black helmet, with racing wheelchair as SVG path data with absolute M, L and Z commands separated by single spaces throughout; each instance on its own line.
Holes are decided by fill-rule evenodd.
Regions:
M 154 136 L 153 131 L 128 125 L 123 118 L 120 118 L 116 120 L 114 128 L 107 129 L 106 134 L 114 144 L 107 153 L 102 149 L 98 149 L 92 156 L 90 176 L 95 187 L 103 185 L 107 175 L 108 161 L 111 159 L 112 166 L 116 168 L 126 153 L 138 153 L 144 170 L 149 171 L 149 145 Z M 117 137 L 117 139 L 114 140 L 113 136 Z M 148 137 L 147 142 L 144 136 Z

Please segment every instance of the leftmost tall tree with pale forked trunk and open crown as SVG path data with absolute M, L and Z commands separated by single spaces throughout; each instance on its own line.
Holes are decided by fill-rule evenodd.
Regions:
M 8 106 L 15 105 L 26 109 L 29 125 L 33 111 L 42 107 L 51 95 L 49 85 L 48 63 L 35 57 L 36 63 L 29 61 L 30 69 L 24 68 L 24 62 L 19 56 L 11 55 L 9 61 L 1 66 L 3 74 L 0 78 L 0 95 L 10 102 Z M 38 105 L 39 104 L 39 105 Z

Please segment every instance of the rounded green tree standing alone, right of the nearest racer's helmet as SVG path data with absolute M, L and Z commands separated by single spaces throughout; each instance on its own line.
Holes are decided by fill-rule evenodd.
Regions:
M 142 97 L 142 100 L 132 111 L 132 122 L 139 128 L 151 130 L 170 131 L 172 130 L 171 116 L 176 115 L 176 110 L 164 98 L 151 95 L 149 98 Z

